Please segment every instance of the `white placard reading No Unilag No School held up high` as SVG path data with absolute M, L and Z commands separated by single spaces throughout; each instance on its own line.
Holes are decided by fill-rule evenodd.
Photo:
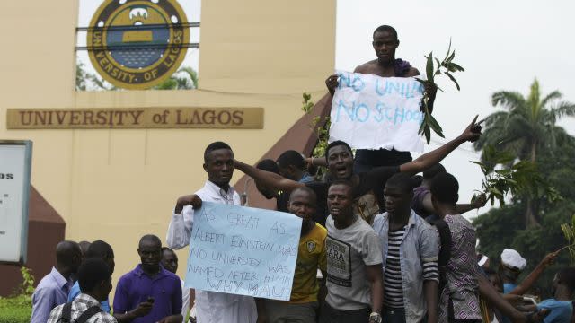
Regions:
M 423 86 L 412 77 L 380 77 L 336 72 L 330 142 L 342 140 L 355 149 L 394 148 L 422 152 L 418 135 L 423 113 Z

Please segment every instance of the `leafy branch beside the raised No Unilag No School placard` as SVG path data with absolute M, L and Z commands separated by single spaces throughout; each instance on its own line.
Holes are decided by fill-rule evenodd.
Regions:
M 460 90 L 459 83 L 457 83 L 456 78 L 454 77 L 454 73 L 456 72 L 464 72 L 464 68 L 460 65 L 457 65 L 453 62 L 454 58 L 456 57 L 456 50 L 451 50 L 451 39 L 449 40 L 449 48 L 447 48 L 446 57 L 443 58 L 442 61 L 439 61 L 438 58 L 433 57 L 433 52 L 430 52 L 427 58 L 427 64 L 425 66 L 425 75 L 427 80 L 423 80 L 421 78 L 416 77 L 415 79 L 423 84 L 424 88 L 427 90 L 429 88 L 437 88 L 439 91 L 444 92 L 441 88 L 438 87 L 438 84 L 435 83 L 435 77 L 437 75 L 447 75 L 449 80 L 456 84 L 457 91 Z M 428 144 L 431 140 L 431 130 L 433 130 L 436 134 L 440 137 L 445 138 L 443 135 L 443 129 L 439 126 L 438 120 L 431 116 L 431 112 L 429 109 L 430 98 L 429 92 L 423 92 L 423 122 L 421 122 L 419 134 L 425 135 L 425 139 L 427 140 Z

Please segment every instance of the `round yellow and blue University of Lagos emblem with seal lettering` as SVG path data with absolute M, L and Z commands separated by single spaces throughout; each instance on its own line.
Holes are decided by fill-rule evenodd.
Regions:
M 92 65 L 120 88 L 162 83 L 186 55 L 187 22 L 176 0 L 105 0 L 87 32 Z

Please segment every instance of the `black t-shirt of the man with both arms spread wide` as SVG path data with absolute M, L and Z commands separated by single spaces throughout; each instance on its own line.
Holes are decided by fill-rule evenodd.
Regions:
M 373 170 L 367 172 L 359 173 L 359 184 L 354 190 L 354 198 L 358 198 L 358 207 L 356 213 L 358 213 L 362 218 L 367 220 L 371 224 L 373 216 L 375 213 L 385 212 L 385 198 L 384 198 L 384 188 L 387 179 L 394 176 L 399 172 L 399 166 L 382 166 L 376 167 Z M 330 214 L 327 208 L 327 190 L 330 188 L 331 182 L 311 182 L 306 183 L 305 186 L 314 190 L 317 196 L 317 210 L 314 217 L 316 223 L 320 223 L 325 226 L 325 219 Z M 369 208 L 370 202 L 365 202 L 368 196 L 373 196 L 375 201 L 371 204 L 376 204 L 377 210 L 372 210 L 371 214 L 366 214 L 365 208 Z

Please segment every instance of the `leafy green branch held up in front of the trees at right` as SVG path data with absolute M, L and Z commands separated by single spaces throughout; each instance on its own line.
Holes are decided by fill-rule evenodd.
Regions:
M 559 192 L 542 178 L 534 162 L 515 162 L 515 159 L 512 153 L 488 145 L 483 149 L 483 161 L 473 162 L 482 170 L 484 178 L 480 192 L 487 196 L 491 205 L 495 200 L 505 205 L 505 196 L 509 194 L 546 197 L 550 202 L 562 199 Z M 498 165 L 503 167 L 497 168 Z M 477 197 L 474 195 L 472 201 Z

